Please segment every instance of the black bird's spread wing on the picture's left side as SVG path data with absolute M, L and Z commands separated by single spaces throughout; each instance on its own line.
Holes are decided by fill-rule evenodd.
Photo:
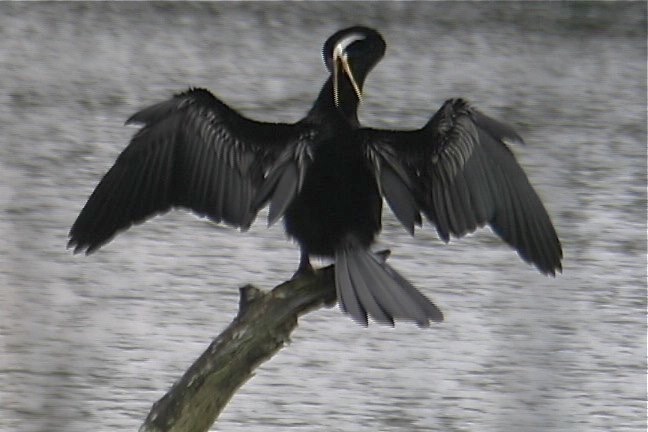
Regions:
M 203 89 L 145 108 L 126 123 L 143 127 L 72 226 L 68 247 L 75 252 L 91 253 L 132 224 L 174 207 L 247 229 L 268 200 L 271 209 L 284 205 L 276 203 L 279 194 L 258 197 L 268 171 L 277 171 L 281 159 L 282 167 L 303 176 L 308 157 L 300 152 L 313 138 L 299 123 L 247 119 Z M 286 182 L 291 180 L 295 188 L 294 179 Z

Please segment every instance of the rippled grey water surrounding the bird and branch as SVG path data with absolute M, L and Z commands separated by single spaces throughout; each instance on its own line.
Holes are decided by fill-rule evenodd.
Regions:
M 564 274 L 487 230 L 443 245 L 386 215 L 380 246 L 446 321 L 309 314 L 214 429 L 645 430 L 644 3 L 0 4 L 0 430 L 136 430 L 236 288 L 292 274 L 297 249 L 263 216 L 240 234 L 176 212 L 89 257 L 64 246 L 135 110 L 192 85 L 297 120 L 321 44 L 357 22 L 388 42 L 362 121 L 421 126 L 462 95 L 514 125 Z

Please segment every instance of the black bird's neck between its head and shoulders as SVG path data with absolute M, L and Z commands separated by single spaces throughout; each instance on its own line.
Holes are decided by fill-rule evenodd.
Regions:
M 333 96 L 333 79 L 329 78 L 322 86 L 315 104 L 308 113 L 308 117 L 315 121 L 330 122 L 343 121 L 353 128 L 360 127 L 358 120 L 358 105 L 360 100 L 351 83 L 341 80 L 338 88 L 338 103 Z

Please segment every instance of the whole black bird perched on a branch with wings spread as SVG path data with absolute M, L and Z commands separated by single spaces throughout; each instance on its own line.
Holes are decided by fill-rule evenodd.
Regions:
M 302 251 L 333 257 L 341 308 L 427 325 L 439 309 L 370 251 L 383 198 L 410 232 L 425 215 L 442 239 L 484 224 L 542 272 L 560 269 L 560 242 L 506 140 L 519 137 L 460 99 L 420 130 L 361 128 L 362 85 L 382 58 L 382 37 L 366 27 L 331 36 L 331 73 L 307 116 L 295 124 L 247 119 L 207 90 L 192 89 L 146 108 L 142 123 L 101 180 L 70 231 L 69 246 L 91 253 L 119 231 L 173 207 L 243 230 L 260 208 L 284 217 Z

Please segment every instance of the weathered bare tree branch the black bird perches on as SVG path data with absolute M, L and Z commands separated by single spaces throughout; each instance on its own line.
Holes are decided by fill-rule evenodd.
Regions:
M 297 318 L 336 301 L 332 266 L 270 292 L 251 285 L 240 291 L 237 317 L 153 405 L 140 432 L 209 430 L 254 369 L 290 339 Z

